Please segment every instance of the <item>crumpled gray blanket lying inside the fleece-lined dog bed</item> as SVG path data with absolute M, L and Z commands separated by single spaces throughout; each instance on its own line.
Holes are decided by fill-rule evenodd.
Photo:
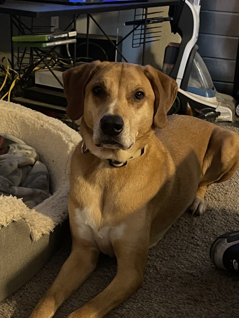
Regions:
M 30 209 L 51 196 L 47 167 L 36 150 L 4 133 L 0 133 L 0 195 L 22 198 Z

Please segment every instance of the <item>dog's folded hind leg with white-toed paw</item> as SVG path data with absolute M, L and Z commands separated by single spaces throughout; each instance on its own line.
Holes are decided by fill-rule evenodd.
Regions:
M 202 166 L 201 181 L 189 211 L 201 215 L 206 211 L 204 196 L 212 183 L 232 178 L 239 168 L 239 136 L 230 130 L 216 127 L 210 138 Z

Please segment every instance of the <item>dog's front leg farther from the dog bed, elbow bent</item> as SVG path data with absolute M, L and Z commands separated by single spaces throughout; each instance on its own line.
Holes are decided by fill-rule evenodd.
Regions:
M 123 237 L 112 242 L 117 258 L 115 278 L 100 294 L 68 318 L 101 318 L 141 287 L 148 255 L 149 231 L 149 226 L 147 229 L 127 226 Z

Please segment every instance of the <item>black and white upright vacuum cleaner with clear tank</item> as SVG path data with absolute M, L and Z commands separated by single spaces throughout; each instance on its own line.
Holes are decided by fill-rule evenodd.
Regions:
M 208 121 L 234 121 L 236 101 L 218 93 L 196 45 L 199 34 L 201 0 L 180 0 L 170 7 L 172 33 L 181 43 L 169 43 L 165 49 L 163 73 L 177 81 L 178 94 L 169 114 L 184 113 L 189 103 L 193 115 Z

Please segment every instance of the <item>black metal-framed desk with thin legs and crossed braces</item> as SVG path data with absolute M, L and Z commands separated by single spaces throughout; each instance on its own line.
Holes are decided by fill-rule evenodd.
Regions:
M 0 13 L 10 15 L 10 18 L 11 18 L 11 37 L 14 35 L 13 34 L 14 33 L 13 32 L 13 24 L 16 26 L 16 29 L 18 31 L 19 30 L 20 30 L 20 32 L 23 31 L 24 28 L 20 29 L 20 27 L 19 27 L 20 23 L 21 23 L 20 22 L 21 17 L 29 17 L 33 20 L 34 18 L 71 16 L 71 17 L 74 17 L 73 29 L 76 30 L 76 18 L 79 15 L 86 14 L 87 15 L 87 40 L 86 40 L 86 42 L 88 45 L 89 19 L 91 17 L 91 14 L 93 14 L 93 13 L 132 10 L 132 9 L 144 9 L 145 10 L 144 17 L 147 17 L 147 9 L 148 8 L 160 7 L 160 6 L 170 6 L 170 8 L 176 10 L 177 5 L 179 3 L 180 3 L 180 0 L 148 0 L 147 2 L 132 2 L 132 3 L 117 3 L 117 4 L 108 3 L 108 4 L 91 4 L 91 5 L 66 5 L 66 4 L 56 4 L 56 3 L 28 2 L 28 1 L 20 1 L 20 0 L 16 0 L 16 1 L 15 0 L 6 0 L 3 4 L 0 4 Z M 14 19 L 17 20 L 17 24 L 14 23 L 15 22 Z M 91 19 L 93 19 L 93 17 L 91 17 Z M 96 21 L 94 21 L 94 23 L 97 24 Z M 69 26 L 70 25 L 71 24 L 69 24 Z M 98 24 L 97 24 L 97 26 L 100 28 L 100 26 Z M 134 27 L 134 26 L 132 26 L 132 27 Z M 133 28 L 133 31 L 134 31 L 134 28 Z M 107 35 L 105 34 L 105 32 L 102 29 L 100 29 L 100 30 L 103 32 L 103 34 L 107 38 Z M 143 30 L 144 30 L 144 34 L 142 37 L 142 44 L 143 44 L 142 64 L 144 64 L 145 39 L 146 39 L 146 19 L 145 19 Z M 129 32 L 127 34 L 127 36 L 129 34 L 131 34 L 131 32 Z M 120 42 L 122 42 L 127 36 L 125 36 Z M 107 38 L 107 39 L 110 41 L 109 38 Z M 121 57 L 126 61 L 126 59 L 124 58 L 122 53 L 118 50 L 118 48 L 117 48 L 118 45 L 119 45 L 119 42 L 116 45 L 114 45 L 114 47 L 117 50 L 117 52 L 119 52 Z M 13 43 L 11 41 L 11 64 L 12 64 L 12 66 L 14 65 L 13 52 L 14 52 L 14 48 L 13 48 Z M 38 54 L 38 59 L 40 59 L 40 54 L 39 53 L 37 53 L 37 54 Z M 73 56 L 74 56 L 73 60 L 74 60 L 74 64 L 75 64 L 76 45 L 74 45 Z M 19 67 L 19 69 L 20 69 L 20 67 Z M 51 68 L 49 68 L 49 71 L 54 75 Z M 55 75 L 54 75 L 54 77 L 56 78 Z M 57 80 L 59 81 L 59 79 L 57 79 Z

